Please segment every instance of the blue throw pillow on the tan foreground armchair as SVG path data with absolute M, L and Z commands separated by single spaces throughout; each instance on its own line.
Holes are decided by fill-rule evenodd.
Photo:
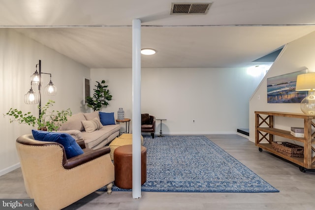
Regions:
M 35 140 L 44 142 L 57 142 L 63 145 L 67 158 L 83 154 L 83 150 L 68 133 L 48 132 L 41 130 L 32 130 Z

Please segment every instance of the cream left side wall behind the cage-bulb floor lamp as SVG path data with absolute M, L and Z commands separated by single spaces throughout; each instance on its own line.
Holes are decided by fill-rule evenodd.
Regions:
M 17 33 L 13 29 L 0 29 L 0 92 L 1 114 L 11 107 L 24 112 L 31 111 L 38 116 L 37 105 L 24 103 L 24 94 L 30 90 L 30 76 L 35 65 L 41 60 L 42 72 L 51 73 L 52 81 L 58 88 L 57 95 L 42 94 L 42 105 L 48 99 L 56 101 L 54 110 L 70 108 L 73 113 L 84 110 L 83 77 L 90 77 L 90 69 L 64 57 L 39 44 L 38 42 Z M 49 75 L 42 75 L 43 87 L 49 82 Z M 37 90 L 36 87 L 33 87 Z M 32 126 L 9 123 L 7 117 L 0 118 L 0 175 L 19 167 L 15 149 L 18 136 L 31 133 Z

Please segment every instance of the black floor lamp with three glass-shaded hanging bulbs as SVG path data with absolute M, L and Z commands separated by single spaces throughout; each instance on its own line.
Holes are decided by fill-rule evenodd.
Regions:
M 37 71 L 37 66 L 38 66 L 38 71 Z M 51 81 L 51 74 L 50 73 L 44 73 L 41 72 L 41 60 L 36 64 L 35 66 L 36 70 L 31 76 L 31 89 L 28 91 L 25 96 L 24 96 L 24 102 L 26 104 L 37 104 L 39 107 L 38 111 L 38 116 L 40 117 L 41 114 L 41 74 L 49 74 L 50 75 L 50 82 L 47 84 L 45 87 L 44 91 L 45 94 L 47 95 L 56 95 L 57 93 L 57 88 Z M 32 89 L 33 85 L 38 86 L 38 96 L 36 92 Z

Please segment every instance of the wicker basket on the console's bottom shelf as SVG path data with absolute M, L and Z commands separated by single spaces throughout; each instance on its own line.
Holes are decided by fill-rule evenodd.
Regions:
M 289 142 L 272 142 L 272 149 L 290 157 L 303 157 L 304 148 Z

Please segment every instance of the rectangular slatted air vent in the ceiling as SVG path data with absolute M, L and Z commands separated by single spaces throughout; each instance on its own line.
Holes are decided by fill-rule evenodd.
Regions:
M 212 2 L 209 3 L 172 3 L 171 15 L 205 15 Z

